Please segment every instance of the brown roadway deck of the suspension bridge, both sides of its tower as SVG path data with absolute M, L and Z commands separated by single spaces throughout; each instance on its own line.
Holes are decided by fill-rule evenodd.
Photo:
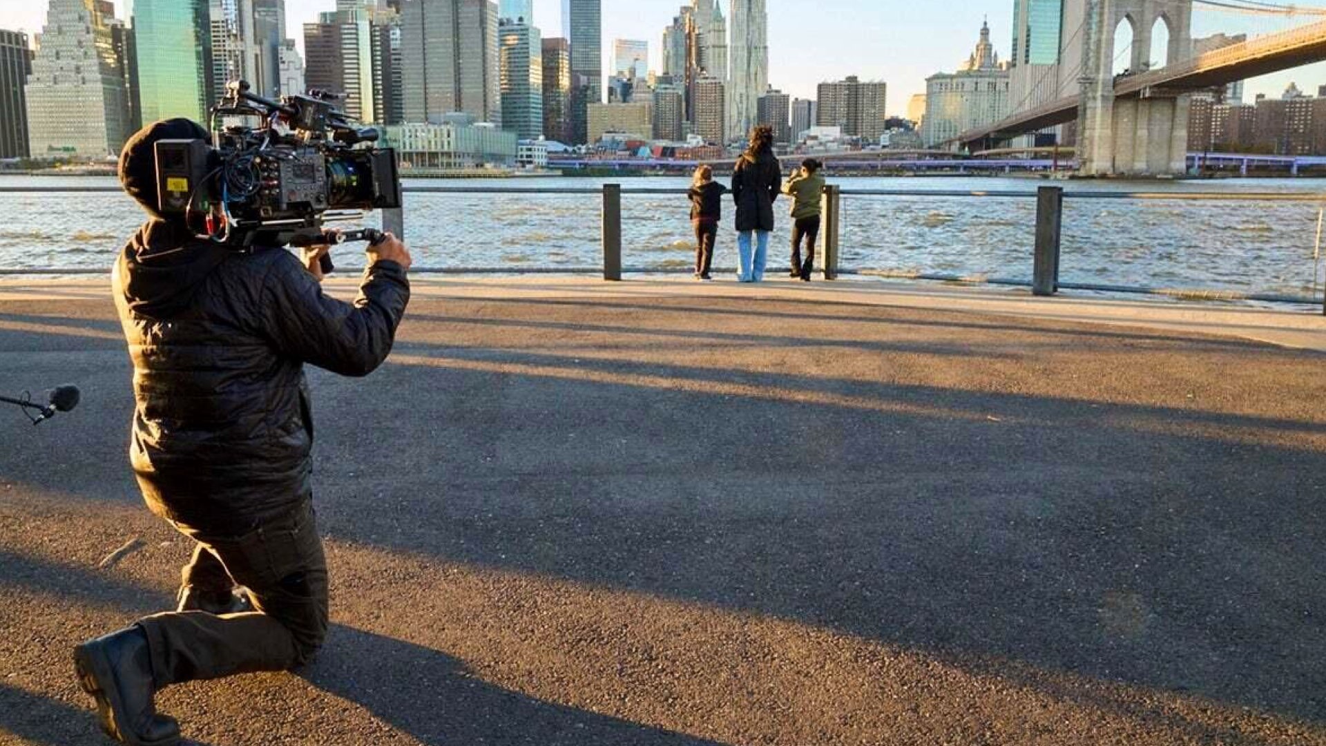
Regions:
M 1326 60 L 1326 21 L 1258 36 L 1172 62 L 1158 70 L 1115 78 L 1118 98 L 1174 96 L 1228 85 L 1252 77 Z M 968 130 L 959 141 L 968 147 L 1042 130 L 1078 117 L 1081 97 L 1066 96 L 1034 106 L 985 127 Z

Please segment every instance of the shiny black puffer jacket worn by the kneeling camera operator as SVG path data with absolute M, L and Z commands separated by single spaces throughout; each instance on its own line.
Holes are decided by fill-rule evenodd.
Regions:
M 129 242 L 114 296 L 134 361 L 130 457 L 154 512 L 240 532 L 312 494 L 304 364 L 366 376 L 391 352 L 410 300 L 378 261 L 355 303 L 281 248 L 239 252 L 152 220 Z

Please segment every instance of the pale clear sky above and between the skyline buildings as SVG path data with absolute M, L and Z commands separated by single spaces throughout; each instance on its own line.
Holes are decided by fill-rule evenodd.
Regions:
M 126 3 L 115 0 L 121 16 Z M 650 44 L 650 65 L 660 66 L 663 28 L 672 23 L 683 0 L 603 0 L 605 68 L 611 65 L 614 38 Z M 687 3 L 690 4 L 690 3 Z M 37 32 L 45 0 L 0 0 L 0 28 Z M 288 25 L 298 28 L 332 9 L 335 0 L 286 0 Z M 727 3 L 724 13 L 727 15 Z M 784 93 L 814 98 L 822 81 L 859 76 L 888 84 L 888 110 L 903 114 L 914 93 L 926 92 L 926 78 L 952 72 L 972 53 L 981 21 L 989 19 L 992 40 L 1002 58 L 1012 41 L 1013 0 L 768 0 L 769 81 Z M 731 21 L 731 19 L 729 19 Z M 1277 23 L 1281 25 L 1269 27 Z M 1258 16 L 1201 13 L 1199 33 L 1262 32 L 1285 21 Z M 561 0 L 534 0 L 534 25 L 545 37 L 561 35 Z M 302 45 L 302 35 L 296 35 Z M 1245 100 L 1257 93 L 1278 96 L 1290 81 L 1307 93 L 1326 85 L 1326 64 L 1286 70 L 1249 81 Z

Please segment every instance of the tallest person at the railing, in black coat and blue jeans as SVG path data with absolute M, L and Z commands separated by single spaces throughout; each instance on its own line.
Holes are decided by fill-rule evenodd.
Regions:
M 737 280 L 743 283 L 764 279 L 769 234 L 773 232 L 773 203 L 781 187 L 782 166 L 773 154 L 773 129 L 761 125 L 751 130 L 751 146 L 732 171 L 732 198 L 737 203 Z

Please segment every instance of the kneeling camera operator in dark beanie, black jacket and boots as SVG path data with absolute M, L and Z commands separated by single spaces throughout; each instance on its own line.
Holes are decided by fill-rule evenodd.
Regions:
M 410 252 L 390 235 L 369 248 L 347 304 L 318 284 L 326 247 L 302 260 L 277 247 L 237 250 L 163 218 L 155 143 L 207 137 L 188 119 L 155 122 L 119 159 L 125 191 L 150 215 L 113 280 L 134 361 L 130 455 L 147 506 L 195 543 L 176 611 L 74 653 L 102 729 L 134 745 L 179 741 L 179 723 L 155 710 L 159 689 L 289 669 L 322 644 L 328 571 L 304 364 L 367 376 L 391 352 L 410 299 Z

